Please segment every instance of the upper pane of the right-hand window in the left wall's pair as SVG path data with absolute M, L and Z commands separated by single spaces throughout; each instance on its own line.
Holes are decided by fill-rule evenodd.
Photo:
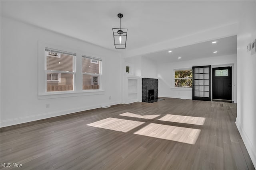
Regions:
M 100 74 L 100 62 L 94 63 L 91 62 L 91 59 L 86 59 L 82 57 L 82 72 Z

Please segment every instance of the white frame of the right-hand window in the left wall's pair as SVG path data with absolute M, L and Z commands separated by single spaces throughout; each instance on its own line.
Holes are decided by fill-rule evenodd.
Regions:
M 99 74 L 95 73 L 84 73 L 83 72 L 83 61 L 81 61 L 81 68 L 82 68 L 82 91 L 83 92 L 98 92 L 102 91 L 102 59 L 96 58 L 96 57 L 90 57 L 88 55 L 82 55 L 82 60 L 83 58 L 90 59 L 90 63 L 96 64 L 95 62 L 92 62 L 92 60 L 96 60 L 97 64 L 99 64 Z M 98 77 L 98 85 L 100 86 L 99 89 L 83 89 L 83 75 L 91 75 L 92 76 L 92 81 L 93 81 L 93 76 Z M 93 85 L 93 82 L 91 81 L 91 85 Z

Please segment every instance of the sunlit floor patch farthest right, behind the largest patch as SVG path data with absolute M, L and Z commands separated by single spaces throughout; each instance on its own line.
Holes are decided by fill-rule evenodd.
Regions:
M 204 125 L 205 117 L 194 117 L 194 116 L 182 116 L 182 115 L 171 115 L 167 114 L 161 117 L 161 121 L 171 121 L 177 123 L 188 123 L 193 125 Z

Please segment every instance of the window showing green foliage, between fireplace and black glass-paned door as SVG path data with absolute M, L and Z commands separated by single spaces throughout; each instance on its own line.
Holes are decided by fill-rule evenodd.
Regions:
M 174 70 L 174 86 L 182 88 L 192 88 L 192 69 Z

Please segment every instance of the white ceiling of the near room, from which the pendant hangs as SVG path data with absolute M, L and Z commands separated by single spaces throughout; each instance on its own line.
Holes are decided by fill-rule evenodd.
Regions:
M 1 16 L 121 52 L 236 23 L 242 2 L 0 1 Z M 124 14 L 121 27 L 128 28 L 126 49 L 114 49 L 112 28 L 119 25 L 118 13 Z M 197 46 L 187 48 L 192 47 Z

